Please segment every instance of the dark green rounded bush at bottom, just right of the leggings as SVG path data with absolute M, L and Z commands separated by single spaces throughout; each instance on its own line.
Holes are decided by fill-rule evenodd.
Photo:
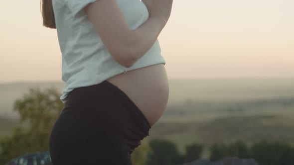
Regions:
M 174 143 L 154 139 L 149 142 L 151 151 L 147 154 L 147 165 L 178 165 L 184 163 Z

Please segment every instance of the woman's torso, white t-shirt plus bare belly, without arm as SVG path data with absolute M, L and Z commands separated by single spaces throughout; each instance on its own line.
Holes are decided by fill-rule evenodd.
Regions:
M 76 87 L 108 80 L 123 90 L 153 125 L 162 115 L 169 93 L 158 40 L 131 68 L 125 68 L 113 60 L 82 10 L 89 0 L 52 2 L 62 52 L 62 80 L 66 82 L 60 99 L 65 102 Z M 131 30 L 147 21 L 149 14 L 142 1 L 117 2 Z

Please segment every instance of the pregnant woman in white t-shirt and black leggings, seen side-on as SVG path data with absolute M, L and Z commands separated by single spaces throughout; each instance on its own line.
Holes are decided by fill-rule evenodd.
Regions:
M 168 101 L 157 40 L 172 0 L 41 0 L 57 29 L 64 107 L 50 135 L 53 165 L 132 165 Z

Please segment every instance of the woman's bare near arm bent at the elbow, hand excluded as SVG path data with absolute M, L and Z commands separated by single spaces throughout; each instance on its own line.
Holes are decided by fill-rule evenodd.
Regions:
M 113 58 L 131 67 L 152 47 L 166 22 L 156 16 L 130 30 L 116 0 L 97 0 L 85 7 L 89 20 Z

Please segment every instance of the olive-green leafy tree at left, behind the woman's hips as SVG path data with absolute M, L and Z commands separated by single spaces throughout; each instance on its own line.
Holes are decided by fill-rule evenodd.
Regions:
M 14 102 L 13 110 L 20 116 L 11 137 L 0 142 L 0 164 L 30 152 L 48 151 L 51 129 L 60 114 L 63 103 L 56 88 L 29 88 Z

